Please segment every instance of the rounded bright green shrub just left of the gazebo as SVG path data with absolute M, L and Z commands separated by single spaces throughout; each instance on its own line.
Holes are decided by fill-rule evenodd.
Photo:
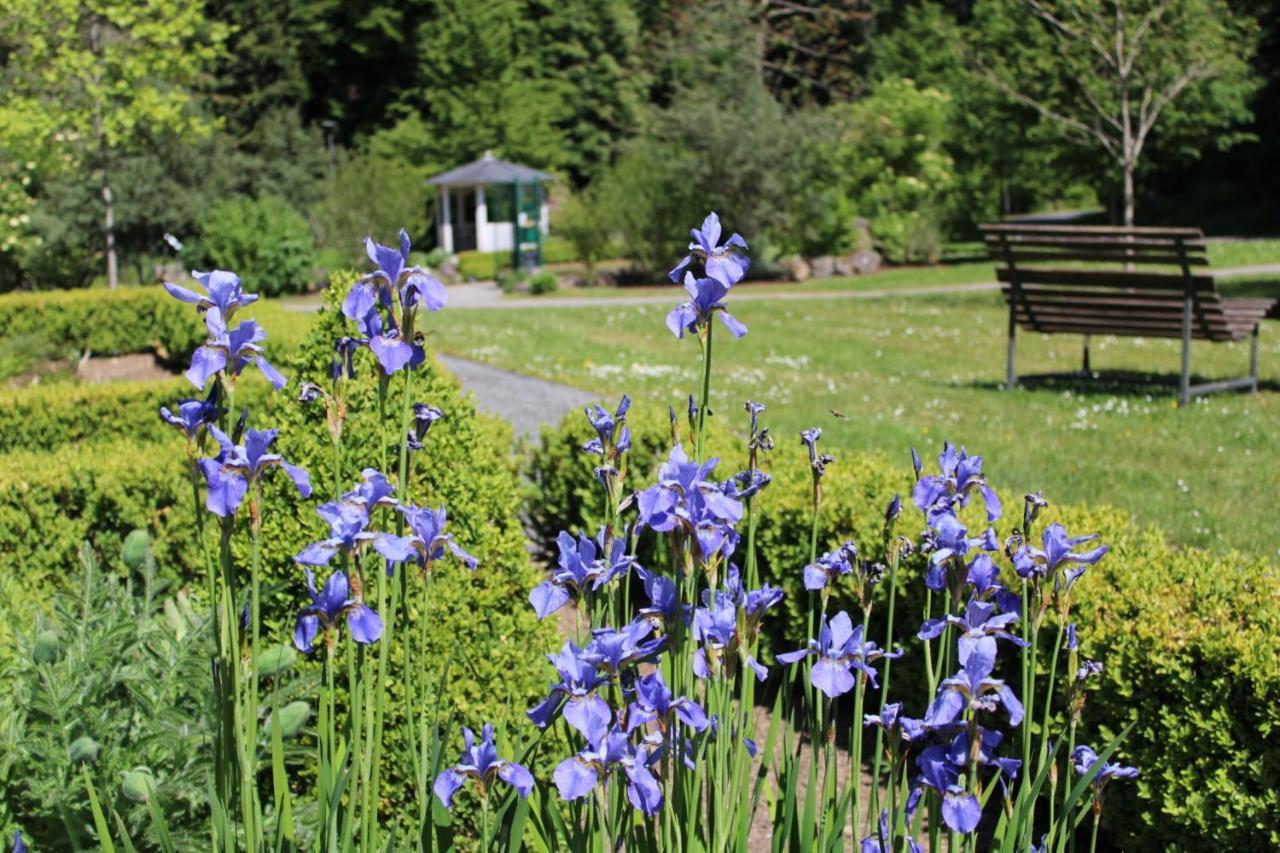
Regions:
M 204 265 L 236 272 L 262 296 L 301 292 L 316 264 L 307 220 L 270 196 L 212 205 L 200 223 L 200 250 Z

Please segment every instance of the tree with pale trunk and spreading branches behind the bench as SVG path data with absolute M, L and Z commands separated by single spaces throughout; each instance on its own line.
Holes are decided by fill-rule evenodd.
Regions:
M 1196 152 L 1249 115 L 1257 24 L 1225 0 L 988 0 L 974 14 L 983 76 L 1102 155 L 1126 225 L 1157 131 L 1165 151 Z

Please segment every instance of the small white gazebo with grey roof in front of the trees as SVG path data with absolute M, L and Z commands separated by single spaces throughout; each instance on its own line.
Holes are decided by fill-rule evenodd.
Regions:
M 444 251 L 513 251 L 527 241 L 520 231 L 547 233 L 543 184 L 554 175 L 485 152 L 474 163 L 428 179 L 436 188 L 435 238 Z

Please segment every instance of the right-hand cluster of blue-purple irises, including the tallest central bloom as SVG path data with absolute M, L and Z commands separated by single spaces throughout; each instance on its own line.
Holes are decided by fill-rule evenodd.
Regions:
M 922 849 L 925 836 L 931 849 L 1074 848 L 1087 813 L 1094 816 L 1096 834 L 1105 785 L 1137 776 L 1107 761 L 1115 743 L 1102 757 L 1074 744 L 1087 683 L 1101 665 L 1079 657 L 1070 596 L 1107 548 L 1084 549 L 1096 537 L 1069 537 L 1056 523 L 1043 529 L 1041 547 L 1032 544 L 1030 530 L 1047 506 L 1038 494 L 1027 496 L 1021 526 L 1001 540 L 992 526 L 1002 516 L 1000 498 L 986 482 L 982 457 L 963 448 L 945 446 L 937 473 L 925 473 L 913 450 L 911 502 L 923 530 L 914 539 L 895 534 L 902 515 L 895 497 L 883 517 L 886 565 L 861 558 L 851 542 L 818 553 L 823 478 L 835 459 L 819 450 L 820 429 L 800 435 L 813 478 L 814 524 L 810 560 L 797 571 L 815 630 L 804 648 L 776 654 L 778 663 L 795 669 L 780 672 L 760 749 L 754 685 L 767 681 L 769 669 L 758 660 L 758 640 L 762 619 L 782 592 L 755 588 L 753 503 L 771 482 L 759 461 L 773 439 L 760 426 L 765 407 L 748 402 L 746 470 L 717 479 L 721 461 L 704 452 L 713 315 L 735 337 L 746 333 L 724 298 L 749 268 L 748 246 L 737 234 L 722 245 L 721 234 L 712 214 L 672 270 L 672 280 L 684 280 L 691 298 L 671 311 L 667 325 L 677 338 L 695 337 L 704 361 L 701 398 L 689 398 L 687 432 L 681 435 L 672 410 L 673 446 L 657 482 L 628 493 L 622 480 L 631 401 L 623 396 L 613 411 L 586 410 L 595 437 L 582 450 L 596 457 L 604 521 L 594 535 L 561 533 L 557 565 L 529 597 L 539 619 L 567 615 L 563 625 L 573 635 L 549 656 L 556 680 L 529 711 L 539 729 L 562 721 L 564 742 L 577 749 L 558 757 L 552 774 L 572 807 L 559 840 L 571 848 L 745 849 L 751 821 L 765 807 L 759 780 L 772 776 L 780 793 L 769 816 L 774 849 L 842 849 L 846 826 L 865 852 Z M 701 277 L 695 275 L 699 268 Z M 986 516 L 975 533 L 966 526 L 972 502 Z M 632 556 L 645 535 L 662 540 L 650 552 L 662 562 L 669 556 L 667 565 L 641 566 Z M 916 631 L 927 679 L 918 717 L 906 713 L 905 702 L 888 701 L 890 666 L 902 654 L 890 644 L 897 575 L 906 558 L 923 564 L 927 589 Z M 1011 571 L 1002 576 L 998 561 Z M 887 596 L 877 593 L 886 585 Z M 873 602 L 886 597 L 882 647 L 868 631 Z M 835 598 L 856 602 L 858 619 L 847 611 L 828 613 Z M 1050 649 L 1041 730 L 1033 734 L 1036 647 L 1051 611 L 1059 638 Z M 1071 676 L 1059 690 L 1062 656 Z M 1002 678 L 1018 671 L 1019 662 L 1020 680 Z M 804 686 L 795 684 L 801 671 Z M 854 724 L 837 731 L 849 719 L 838 704 L 847 694 L 854 694 Z M 1053 739 L 1050 729 L 1059 719 L 1050 704 L 1064 694 L 1066 731 Z M 868 701 L 874 712 L 864 713 Z M 808 731 L 813 752 L 806 767 L 803 742 L 792 739 L 788 726 Z M 876 738 L 865 807 L 864 731 Z M 439 777 L 443 803 L 452 804 L 467 777 L 476 780 L 483 799 L 492 795 L 494 779 L 511 783 L 517 797 L 535 790 L 522 765 L 497 757 L 492 729 L 486 733 L 481 747 L 468 735 L 470 753 Z M 847 779 L 836 770 L 840 735 L 858 770 Z M 485 763 L 472 760 L 476 749 L 485 751 Z M 1079 780 L 1059 783 L 1060 763 Z M 1078 808 L 1085 792 L 1092 792 L 1091 809 Z M 543 838 L 554 840 L 554 834 Z

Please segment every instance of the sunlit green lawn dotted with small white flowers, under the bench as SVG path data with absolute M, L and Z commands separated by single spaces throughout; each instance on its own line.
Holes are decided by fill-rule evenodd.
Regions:
M 637 405 L 682 405 L 696 389 L 699 350 L 663 327 L 664 305 L 457 311 L 434 324 L 435 345 L 460 356 L 579 386 Z M 735 315 L 751 332 L 717 325 L 712 406 L 745 423 L 742 401 L 769 406 L 776 453 L 799 455 L 796 434 L 824 429 L 837 453 L 869 451 L 908 464 L 943 439 L 987 457 L 997 484 L 1044 489 L 1052 501 L 1110 503 L 1176 542 L 1277 555 L 1280 324 L 1260 352 L 1265 391 L 1216 394 L 1188 410 L 1167 387 L 1059 386 L 998 389 L 1006 314 L 995 293 L 872 300 L 750 301 Z M 1023 373 L 1079 364 L 1079 338 L 1019 337 Z M 1201 377 L 1242 375 L 1244 343 L 1196 343 Z M 1096 338 L 1097 370 L 1176 377 L 1174 341 Z M 831 410 L 845 418 L 836 418 Z

